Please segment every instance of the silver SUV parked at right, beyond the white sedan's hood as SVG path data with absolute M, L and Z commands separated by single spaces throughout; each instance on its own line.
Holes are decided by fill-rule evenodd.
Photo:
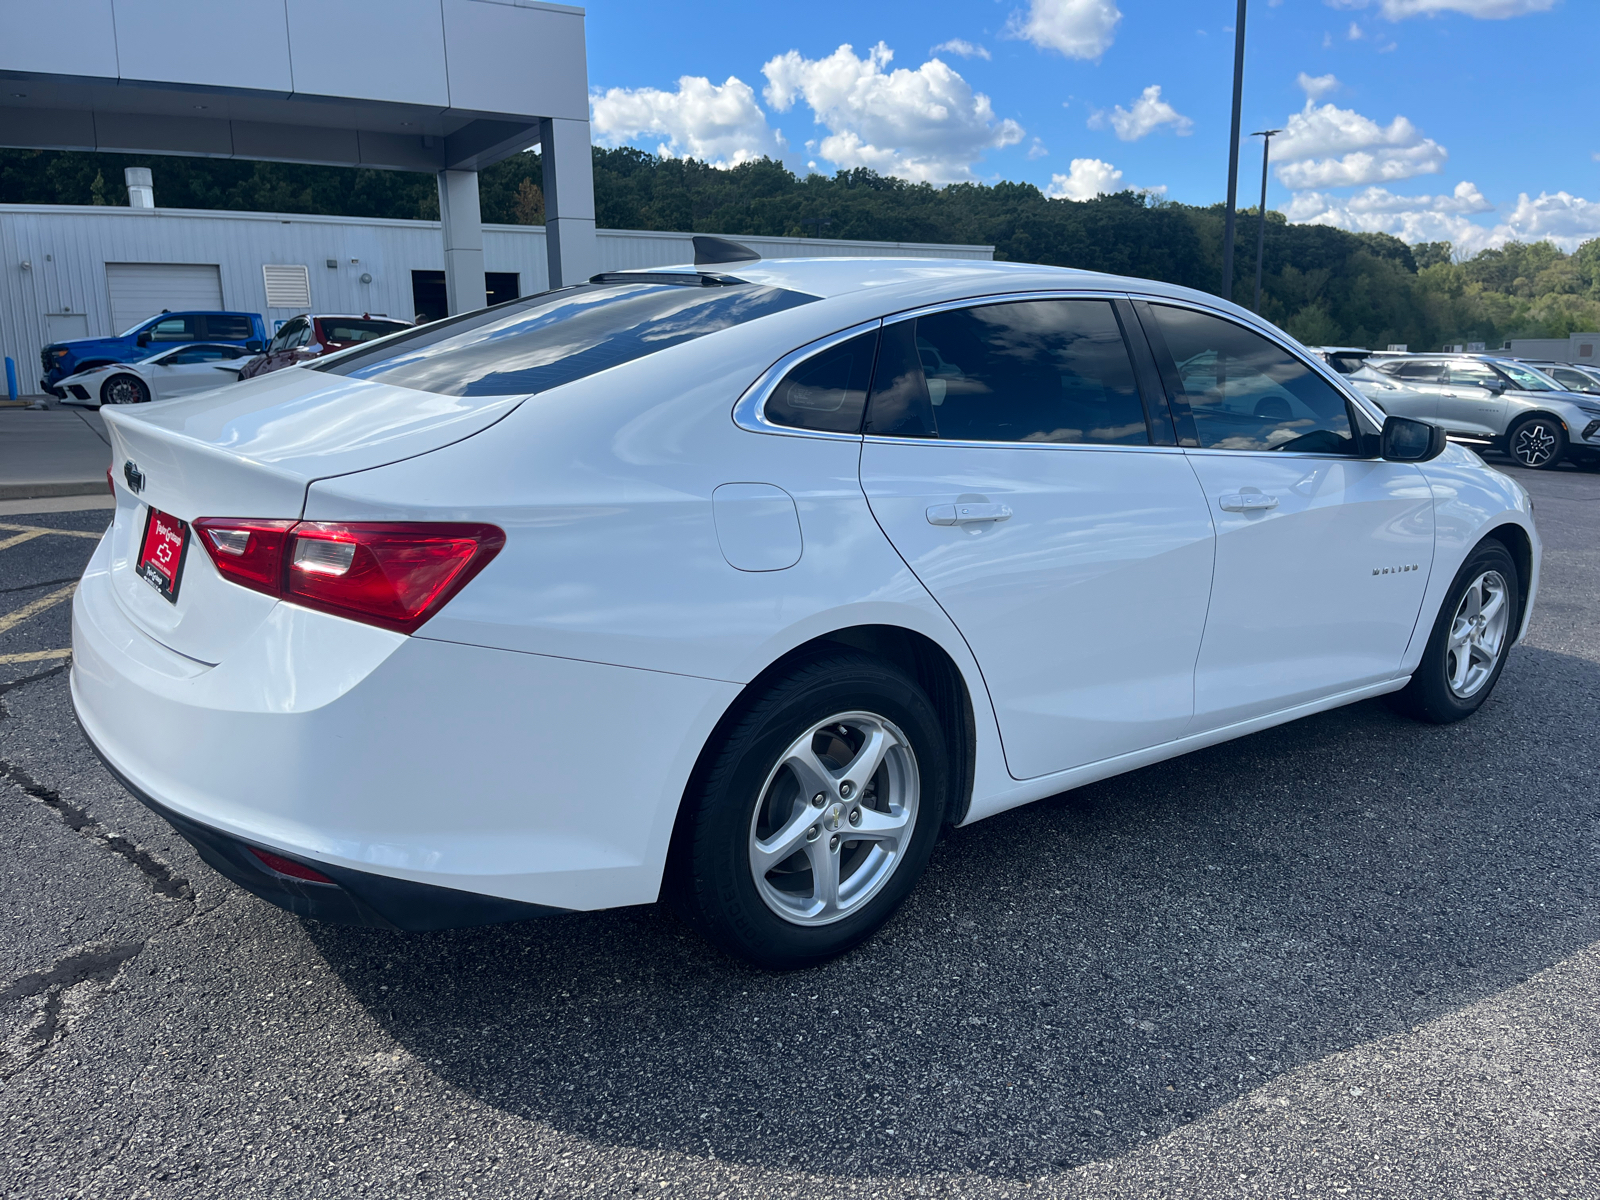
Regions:
M 1523 467 L 1549 469 L 1563 459 L 1600 464 L 1600 397 L 1568 390 L 1515 358 L 1392 355 L 1368 360 L 1349 381 L 1386 413 L 1488 443 Z

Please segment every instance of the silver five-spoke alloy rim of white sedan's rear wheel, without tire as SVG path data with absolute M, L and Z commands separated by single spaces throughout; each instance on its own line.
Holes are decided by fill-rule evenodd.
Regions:
M 794 925 L 859 910 L 904 861 L 920 782 L 910 741 L 872 712 L 840 712 L 795 738 L 750 816 L 750 874 Z

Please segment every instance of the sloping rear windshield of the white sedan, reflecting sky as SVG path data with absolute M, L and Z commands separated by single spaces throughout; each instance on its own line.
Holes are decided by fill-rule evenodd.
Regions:
M 526 395 L 814 299 L 754 283 L 581 283 L 424 325 L 312 370 L 442 395 Z

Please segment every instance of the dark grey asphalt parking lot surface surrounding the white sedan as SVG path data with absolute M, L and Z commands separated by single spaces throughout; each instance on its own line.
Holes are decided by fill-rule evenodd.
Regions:
M 0 517 L 0 1195 L 1600 1197 L 1600 474 L 1517 477 L 1542 594 L 1472 720 L 1358 704 L 958 830 L 795 974 L 656 909 L 235 890 L 74 725 L 109 514 Z

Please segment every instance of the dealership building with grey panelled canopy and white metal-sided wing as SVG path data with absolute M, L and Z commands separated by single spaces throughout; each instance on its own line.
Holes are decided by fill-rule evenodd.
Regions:
M 0 352 L 162 309 L 429 317 L 691 261 L 688 234 L 597 230 L 584 10 L 541 0 L 5 3 L 0 146 L 427 171 L 440 221 L 0 206 Z M 62 30 L 70 30 L 69 37 Z M 358 30 L 352 37 L 331 30 Z M 544 226 L 483 226 L 478 171 L 538 147 Z M 989 258 L 987 246 L 742 238 L 766 254 Z

